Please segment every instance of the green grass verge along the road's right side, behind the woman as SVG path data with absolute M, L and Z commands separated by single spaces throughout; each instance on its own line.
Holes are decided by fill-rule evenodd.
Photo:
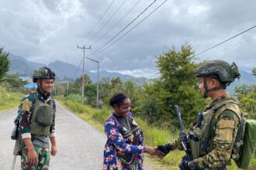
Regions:
M 72 110 L 75 114 L 81 117 L 83 120 L 92 124 L 99 131 L 104 132 L 104 123 L 106 118 L 109 117 L 112 110 L 111 108 L 104 107 L 102 109 L 95 109 L 87 105 L 79 103 L 79 100 L 65 99 L 64 97 L 57 97 L 57 100 L 61 101 L 62 104 Z M 156 146 L 166 144 L 168 141 L 178 138 L 178 131 L 170 132 L 167 129 L 160 129 L 147 124 L 146 121 L 140 117 L 136 117 L 135 120 L 140 128 L 144 132 L 144 143 L 146 146 Z M 171 151 L 163 159 L 154 158 L 146 155 L 145 165 L 150 166 L 152 169 L 179 169 L 178 164 L 181 161 L 182 156 L 185 155 L 184 151 Z M 256 158 L 251 162 L 251 166 L 256 165 Z M 238 169 L 234 162 L 228 166 L 228 169 Z

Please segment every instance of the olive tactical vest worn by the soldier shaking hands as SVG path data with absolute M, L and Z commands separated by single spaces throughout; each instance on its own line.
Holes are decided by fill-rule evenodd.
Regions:
M 206 111 L 202 113 L 201 126 L 193 128 L 190 132 L 192 135 L 189 136 L 189 145 L 194 159 L 213 151 L 216 123 L 223 110 L 234 111 L 241 120 L 240 108 L 237 104 L 235 97 L 225 97 L 206 107 Z

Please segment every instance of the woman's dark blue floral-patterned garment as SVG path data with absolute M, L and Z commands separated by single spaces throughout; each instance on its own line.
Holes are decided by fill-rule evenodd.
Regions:
M 133 114 L 127 113 L 127 116 L 133 120 Z M 144 158 L 144 138 L 142 131 L 137 131 L 139 135 L 139 145 L 130 145 L 129 141 L 123 138 L 121 131 L 123 126 L 116 120 L 114 114 L 111 114 L 105 124 L 105 132 L 108 140 L 104 150 L 103 170 L 140 170 L 143 169 Z M 123 155 L 120 157 L 119 155 Z M 126 162 L 126 159 L 129 162 Z

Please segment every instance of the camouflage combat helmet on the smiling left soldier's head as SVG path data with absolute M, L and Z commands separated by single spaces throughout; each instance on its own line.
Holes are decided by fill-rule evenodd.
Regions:
M 55 73 L 50 68 L 43 66 L 33 73 L 33 83 L 40 79 L 55 79 Z

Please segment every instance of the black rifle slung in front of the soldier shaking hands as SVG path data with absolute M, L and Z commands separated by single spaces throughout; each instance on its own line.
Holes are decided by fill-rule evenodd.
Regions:
M 189 140 L 188 140 L 187 135 L 185 134 L 185 131 L 184 131 L 184 126 L 183 126 L 183 123 L 182 123 L 182 115 L 181 115 L 181 111 L 179 110 L 178 105 L 175 105 L 175 112 L 177 114 L 178 124 L 179 124 L 179 128 L 180 128 L 179 139 L 180 139 L 180 143 L 182 145 L 182 148 L 185 151 L 185 159 L 187 161 L 191 162 L 193 160 L 192 153 L 191 153 L 191 150 L 189 148 Z M 181 168 L 182 170 L 184 169 L 182 165 L 180 165 L 179 168 Z

